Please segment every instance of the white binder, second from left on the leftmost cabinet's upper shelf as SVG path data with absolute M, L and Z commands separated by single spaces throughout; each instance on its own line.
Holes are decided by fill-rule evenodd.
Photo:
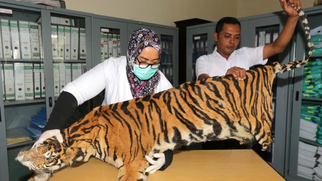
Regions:
M 11 47 L 14 59 L 21 59 L 18 21 L 10 20 Z

